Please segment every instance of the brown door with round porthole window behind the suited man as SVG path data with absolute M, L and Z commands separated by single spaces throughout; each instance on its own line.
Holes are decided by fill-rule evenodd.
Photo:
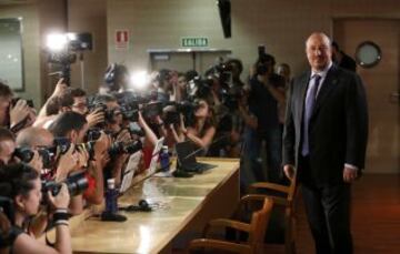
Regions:
M 382 52 L 372 68 L 357 67 L 367 91 L 369 142 L 367 173 L 400 173 L 400 20 L 336 19 L 333 38 L 354 58 L 359 44 L 374 42 Z

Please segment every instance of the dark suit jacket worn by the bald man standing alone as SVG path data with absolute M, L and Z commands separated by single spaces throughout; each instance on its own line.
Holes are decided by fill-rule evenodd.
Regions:
M 283 164 L 297 167 L 310 73 L 308 71 L 293 80 L 287 104 Z M 367 111 L 361 79 L 356 73 L 332 65 L 319 91 L 309 123 L 310 172 L 304 175 L 298 169 L 300 181 L 311 176 L 316 184 L 339 184 L 343 182 L 344 163 L 360 170 L 364 167 Z

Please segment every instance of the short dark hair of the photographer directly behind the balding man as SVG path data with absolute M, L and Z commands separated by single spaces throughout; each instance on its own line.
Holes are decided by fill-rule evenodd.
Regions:
M 58 115 L 48 130 L 54 136 L 67 136 L 71 131 L 81 131 L 87 123 L 82 114 L 68 111 Z

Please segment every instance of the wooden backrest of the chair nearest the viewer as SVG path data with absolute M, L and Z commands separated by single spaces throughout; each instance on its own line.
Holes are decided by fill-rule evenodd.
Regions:
M 252 247 L 256 247 L 258 244 L 263 243 L 266 230 L 268 227 L 268 222 L 271 215 L 273 206 L 273 201 L 270 197 L 266 197 L 263 201 L 262 209 L 256 211 L 250 221 L 250 232 L 248 244 Z

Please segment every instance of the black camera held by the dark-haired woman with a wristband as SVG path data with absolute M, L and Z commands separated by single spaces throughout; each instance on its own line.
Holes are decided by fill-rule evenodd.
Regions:
M 60 183 L 56 181 L 42 181 L 42 192 L 48 193 L 50 191 L 53 196 L 57 196 L 60 193 L 62 183 L 67 184 L 68 192 L 71 196 L 81 194 L 89 186 L 84 172 L 73 172 Z

